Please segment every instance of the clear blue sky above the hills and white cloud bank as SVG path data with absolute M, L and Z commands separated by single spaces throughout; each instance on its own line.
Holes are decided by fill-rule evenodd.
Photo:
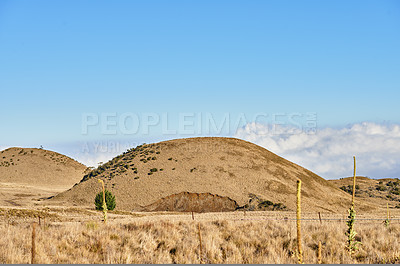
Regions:
M 399 47 L 399 1 L 2 0 L 0 147 L 173 138 L 83 135 L 85 113 L 398 124 Z

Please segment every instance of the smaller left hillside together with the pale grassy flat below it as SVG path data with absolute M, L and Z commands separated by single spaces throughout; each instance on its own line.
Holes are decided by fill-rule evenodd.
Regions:
M 43 149 L 9 148 L 0 152 L 0 206 L 33 206 L 65 191 L 86 173 L 83 164 Z

